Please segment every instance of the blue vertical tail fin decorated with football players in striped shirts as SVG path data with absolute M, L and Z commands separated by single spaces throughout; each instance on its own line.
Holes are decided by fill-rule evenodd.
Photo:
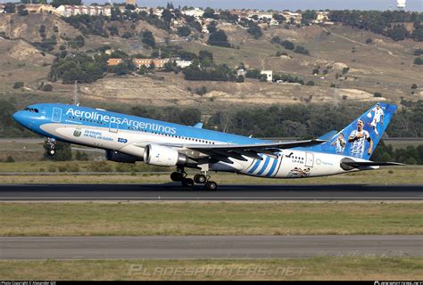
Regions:
M 396 109 L 396 105 L 378 102 L 328 142 L 307 149 L 369 160 Z

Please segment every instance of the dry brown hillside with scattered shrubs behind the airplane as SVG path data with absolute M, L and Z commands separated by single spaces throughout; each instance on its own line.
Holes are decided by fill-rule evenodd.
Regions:
M 45 31 L 40 32 L 43 25 Z M 198 32 L 194 33 L 194 40 L 187 41 L 184 37 L 170 34 L 144 20 L 104 21 L 102 25 L 104 30 L 110 30 L 113 26 L 120 35 L 129 32 L 130 36 L 84 35 L 53 14 L 30 14 L 25 17 L 1 14 L 0 64 L 3 68 L 0 76 L 4 79 L 1 80 L 0 92 L 19 96 L 30 91 L 47 99 L 54 98 L 54 101 L 71 102 L 73 85 L 63 85 L 60 80 L 54 83 L 47 81 L 54 54 L 65 50 L 68 55 L 94 55 L 96 49 L 107 45 L 129 55 L 142 53 L 148 56 L 152 50 L 141 45 L 139 39 L 139 35 L 148 29 L 153 32 L 157 45 L 163 49 L 168 45 L 179 46 L 196 54 L 206 50 L 213 54 L 216 64 L 225 63 L 231 69 L 243 62 L 246 69 L 270 69 L 274 73 L 300 77 L 303 82 L 313 81 L 314 85 L 267 83 L 249 78 L 244 83 L 188 81 L 181 72 L 155 71 L 146 76 L 123 77 L 108 74 L 94 83 L 80 84 L 82 100 L 201 106 L 212 111 L 232 104 L 399 102 L 402 98 L 411 101 L 423 99 L 421 86 L 416 90 L 411 89 L 411 85 L 422 85 L 423 82 L 423 66 L 413 64 L 413 51 L 423 45 L 411 39 L 394 41 L 369 31 L 338 25 L 263 28 L 263 36 L 255 39 L 247 33 L 246 28 L 219 21 L 218 28 L 226 32 L 228 42 L 234 46 L 228 48 L 207 45 L 208 36 Z M 43 33 L 44 37 L 41 35 Z M 51 50 L 33 45 L 41 43 L 43 38 L 52 37 L 56 43 Z M 84 45 L 72 46 L 76 37 L 83 37 Z M 310 55 L 294 53 L 282 45 L 272 43 L 274 37 L 303 45 Z M 368 38 L 372 41 L 366 44 Z M 278 52 L 286 54 L 277 56 Z M 313 69 L 319 69 L 319 74 L 313 75 Z M 344 69 L 347 69 L 346 72 Z M 24 82 L 23 89 L 13 89 L 14 82 L 18 81 Z M 37 90 L 40 85 L 47 83 L 53 85 L 52 92 Z M 337 88 L 333 88 L 334 85 Z M 203 86 L 207 93 L 203 96 L 195 94 L 195 90 Z M 414 94 L 411 94 L 412 91 Z M 382 97 L 374 97 L 374 93 L 380 93 Z

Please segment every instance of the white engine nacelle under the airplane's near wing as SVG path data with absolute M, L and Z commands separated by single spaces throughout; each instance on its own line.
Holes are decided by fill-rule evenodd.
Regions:
M 174 167 L 184 165 L 187 162 L 187 157 L 167 146 L 147 144 L 144 151 L 144 162 L 158 167 Z

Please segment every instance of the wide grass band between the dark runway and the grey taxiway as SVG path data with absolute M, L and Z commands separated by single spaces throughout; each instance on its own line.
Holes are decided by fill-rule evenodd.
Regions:
M 1 236 L 423 234 L 421 203 L 11 203 Z

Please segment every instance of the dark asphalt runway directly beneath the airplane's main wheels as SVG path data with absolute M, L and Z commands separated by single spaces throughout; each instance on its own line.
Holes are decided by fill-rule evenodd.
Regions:
M 0 200 L 422 200 L 422 185 L 219 185 L 205 191 L 167 184 L 0 185 Z

